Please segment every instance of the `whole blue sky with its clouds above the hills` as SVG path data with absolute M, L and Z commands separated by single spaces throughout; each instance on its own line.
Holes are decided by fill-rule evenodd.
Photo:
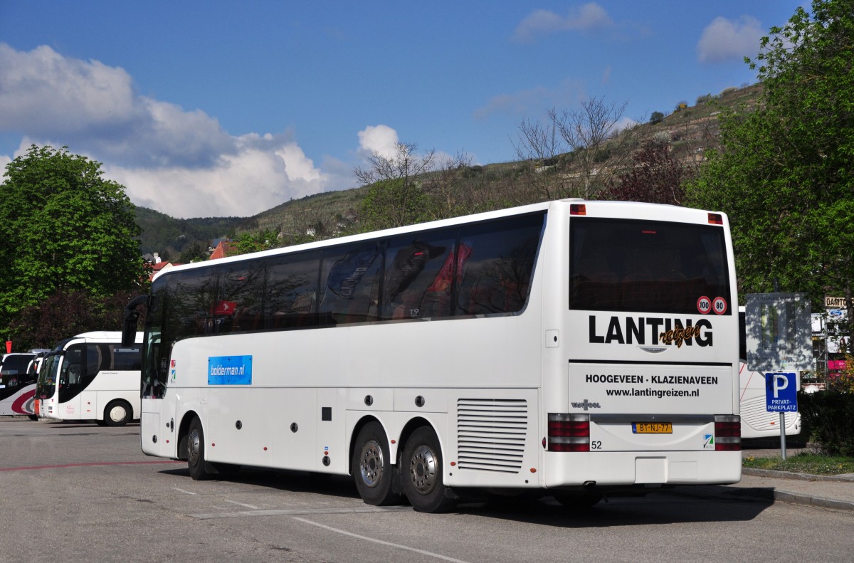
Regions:
M 645 120 L 752 84 L 800 4 L 0 0 L 0 166 L 67 145 L 137 205 L 250 216 L 395 142 L 512 161 L 549 108 Z

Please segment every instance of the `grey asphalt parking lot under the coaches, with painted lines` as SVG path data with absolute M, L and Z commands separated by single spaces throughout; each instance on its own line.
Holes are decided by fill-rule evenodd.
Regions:
M 370 507 L 349 478 L 250 470 L 193 481 L 149 458 L 139 427 L 0 418 L 0 562 L 847 561 L 854 513 L 738 495 L 736 487 L 615 498 L 573 513 L 504 499 L 453 513 Z M 792 542 L 793 531 L 810 530 Z M 842 531 L 846 531 L 842 533 Z

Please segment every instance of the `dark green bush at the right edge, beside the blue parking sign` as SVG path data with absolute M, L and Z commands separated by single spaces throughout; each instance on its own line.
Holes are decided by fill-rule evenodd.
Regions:
M 854 394 L 826 390 L 798 393 L 798 410 L 810 439 L 827 455 L 854 455 Z

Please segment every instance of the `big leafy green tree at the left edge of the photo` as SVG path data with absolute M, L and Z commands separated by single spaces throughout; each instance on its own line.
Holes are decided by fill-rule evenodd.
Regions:
M 0 327 L 61 290 L 106 298 L 143 284 L 125 187 L 67 147 L 32 145 L 6 166 L 0 199 Z

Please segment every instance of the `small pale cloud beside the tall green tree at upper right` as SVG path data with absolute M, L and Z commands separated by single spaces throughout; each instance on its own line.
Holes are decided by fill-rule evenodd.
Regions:
M 703 30 L 697 43 L 700 62 L 741 61 L 755 56 L 764 32 L 756 18 L 742 15 L 738 21 L 717 17 Z

